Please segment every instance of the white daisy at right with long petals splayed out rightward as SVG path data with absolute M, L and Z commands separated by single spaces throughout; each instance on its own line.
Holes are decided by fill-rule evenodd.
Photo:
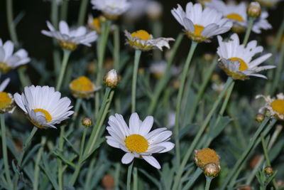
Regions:
M 256 53 L 263 51 L 262 46 L 257 46 L 256 41 L 250 41 L 246 47 L 239 42 L 239 36 L 234 33 L 229 41 L 222 41 L 222 37 L 218 36 L 219 47 L 217 53 L 219 56 L 219 66 L 231 78 L 236 80 L 246 80 L 249 76 L 266 78 L 265 75 L 257 74 L 261 70 L 275 68 L 274 65 L 266 65 L 258 67 L 263 61 L 272 56 L 271 53 L 258 57 L 253 60 Z

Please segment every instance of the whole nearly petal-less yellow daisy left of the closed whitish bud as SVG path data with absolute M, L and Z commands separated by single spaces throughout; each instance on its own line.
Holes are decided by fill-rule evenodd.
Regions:
M 94 96 L 94 92 L 100 88 L 95 87 L 89 78 L 82 76 L 71 81 L 69 88 L 74 97 L 89 98 Z

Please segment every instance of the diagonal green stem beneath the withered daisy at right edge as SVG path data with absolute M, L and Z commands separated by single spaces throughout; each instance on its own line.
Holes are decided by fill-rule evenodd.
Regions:
M 261 122 L 261 125 L 258 127 L 258 130 L 256 131 L 256 133 L 251 138 L 251 141 L 249 142 L 249 147 L 247 147 L 246 151 L 243 154 L 241 154 L 241 157 L 237 160 L 233 169 L 230 170 L 228 176 L 223 181 L 223 184 L 221 187 L 222 190 L 226 189 L 226 186 L 227 184 L 229 184 L 230 179 L 234 176 L 234 174 L 236 174 L 236 171 L 239 169 L 242 162 L 244 162 L 244 159 L 246 159 L 246 157 L 249 155 L 249 152 L 251 152 L 251 149 L 253 148 L 256 140 L 258 139 L 259 134 L 262 132 L 264 127 L 266 127 L 266 123 L 268 122 L 268 120 L 269 118 L 266 118 L 265 120 L 263 120 L 263 122 Z

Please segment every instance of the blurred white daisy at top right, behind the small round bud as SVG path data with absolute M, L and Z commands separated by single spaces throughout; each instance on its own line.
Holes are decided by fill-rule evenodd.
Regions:
M 240 4 L 226 4 L 221 0 L 212 0 L 205 4 L 207 7 L 216 9 L 222 13 L 226 19 L 230 19 L 234 23 L 234 26 L 232 27 L 234 32 L 239 33 L 246 30 L 249 19 L 246 13 L 248 7 L 244 2 L 241 2 Z M 254 33 L 261 33 L 261 29 L 267 30 L 271 28 L 271 24 L 266 20 L 267 17 L 268 13 L 262 11 L 261 16 L 253 23 L 252 31 Z

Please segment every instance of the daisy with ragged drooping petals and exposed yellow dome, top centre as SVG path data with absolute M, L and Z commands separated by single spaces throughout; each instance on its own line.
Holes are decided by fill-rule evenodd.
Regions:
M 133 33 L 124 31 L 124 33 L 127 38 L 126 43 L 141 51 L 149 51 L 153 48 L 158 48 L 160 51 L 163 51 L 163 46 L 170 48 L 168 42 L 175 41 L 173 38 L 153 38 L 151 34 L 144 30 L 135 31 Z

